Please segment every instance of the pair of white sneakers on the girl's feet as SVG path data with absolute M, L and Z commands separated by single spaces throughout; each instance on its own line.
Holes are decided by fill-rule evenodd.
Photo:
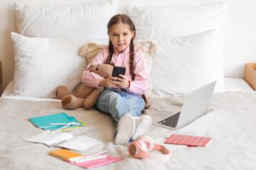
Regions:
M 132 116 L 125 114 L 118 122 L 115 145 L 126 145 L 129 140 L 137 140 L 151 126 L 152 118 L 149 115 Z

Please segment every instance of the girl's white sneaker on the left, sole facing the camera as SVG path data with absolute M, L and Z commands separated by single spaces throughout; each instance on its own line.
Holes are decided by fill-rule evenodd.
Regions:
M 117 135 L 114 138 L 115 145 L 125 145 L 134 134 L 135 120 L 132 115 L 125 114 L 119 120 L 117 125 Z

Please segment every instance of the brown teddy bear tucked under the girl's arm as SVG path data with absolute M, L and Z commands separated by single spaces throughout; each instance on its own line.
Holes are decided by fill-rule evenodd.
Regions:
M 90 65 L 90 72 L 95 72 L 103 78 L 112 75 L 114 64 L 92 64 Z M 95 106 L 100 94 L 104 91 L 103 87 L 96 88 L 83 85 L 77 93 L 68 91 L 66 86 L 59 86 L 56 91 L 56 98 L 61 99 L 63 108 L 92 108 Z

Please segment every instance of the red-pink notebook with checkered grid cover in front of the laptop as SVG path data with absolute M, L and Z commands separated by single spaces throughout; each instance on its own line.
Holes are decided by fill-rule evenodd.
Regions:
M 187 145 L 188 147 L 206 147 L 211 140 L 211 137 L 171 135 L 166 139 L 164 143 L 174 145 Z

